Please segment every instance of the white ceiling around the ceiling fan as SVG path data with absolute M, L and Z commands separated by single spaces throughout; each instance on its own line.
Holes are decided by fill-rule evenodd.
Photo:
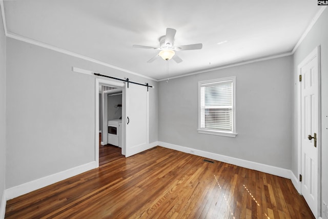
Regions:
M 203 43 L 178 51 L 169 77 L 222 65 L 290 53 L 316 13 L 317 1 L 223 0 L 18 0 L 4 1 L 8 33 L 115 65 L 155 79 L 168 77 L 157 50 L 166 28 L 175 45 Z M 218 45 L 218 42 L 228 42 Z

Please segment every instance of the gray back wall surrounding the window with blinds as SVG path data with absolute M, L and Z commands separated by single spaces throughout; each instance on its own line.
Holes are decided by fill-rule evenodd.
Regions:
M 292 56 L 159 82 L 159 141 L 291 168 Z M 197 133 L 198 81 L 236 76 L 237 137 Z

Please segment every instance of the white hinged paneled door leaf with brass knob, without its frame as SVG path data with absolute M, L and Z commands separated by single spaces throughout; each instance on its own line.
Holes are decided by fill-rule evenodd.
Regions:
M 300 66 L 301 84 L 301 192 L 317 218 L 318 215 L 318 56 Z M 313 139 L 316 135 L 317 139 Z M 310 137 L 309 137 L 310 136 Z M 310 140 L 311 139 L 311 140 Z

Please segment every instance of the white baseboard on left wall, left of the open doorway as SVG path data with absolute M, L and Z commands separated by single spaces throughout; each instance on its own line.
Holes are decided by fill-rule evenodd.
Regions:
M 53 183 L 68 179 L 70 177 L 76 176 L 77 174 L 86 172 L 86 171 L 94 169 L 96 167 L 97 167 L 96 162 L 93 161 L 93 162 L 90 162 L 87 164 L 73 167 L 71 169 L 67 169 L 67 170 L 64 170 L 61 172 L 54 173 L 47 177 L 43 177 L 43 178 L 33 180 L 28 183 L 24 183 L 24 184 L 21 184 L 18 186 L 11 187 L 11 188 L 5 190 L 6 200 L 10 200 L 10 199 L 16 198 L 20 195 L 34 191 L 36 189 L 40 189 L 45 186 L 49 186 Z

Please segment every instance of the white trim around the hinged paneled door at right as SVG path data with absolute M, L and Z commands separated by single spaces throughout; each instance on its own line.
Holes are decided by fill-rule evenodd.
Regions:
M 316 47 L 302 62 L 297 65 L 297 79 L 301 74 L 301 68 L 312 60 L 318 57 L 318 209 L 317 215 L 321 215 L 321 59 L 320 59 L 320 46 Z M 302 157 L 301 157 L 301 83 L 297 83 L 297 157 L 298 157 L 298 175 L 302 171 Z M 299 193 L 302 194 L 302 186 L 300 184 Z

